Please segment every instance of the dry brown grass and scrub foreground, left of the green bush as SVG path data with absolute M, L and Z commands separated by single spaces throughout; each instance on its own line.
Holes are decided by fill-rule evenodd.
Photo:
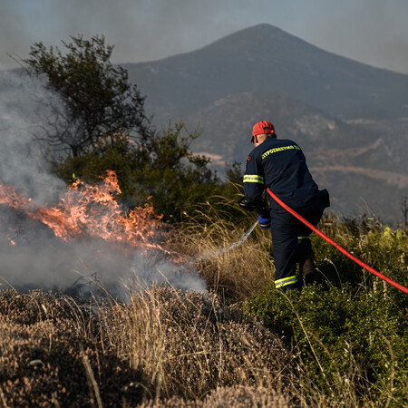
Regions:
M 290 365 L 276 335 L 215 293 L 151 287 L 92 308 L 0 296 L 0 406 L 264 406 L 287 401 Z

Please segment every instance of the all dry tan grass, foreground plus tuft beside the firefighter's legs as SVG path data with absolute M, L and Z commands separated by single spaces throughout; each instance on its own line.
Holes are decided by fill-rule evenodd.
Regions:
M 239 248 L 223 251 L 256 217 L 245 228 L 217 219 L 217 214 L 209 219 L 216 221 L 189 219 L 171 241 L 173 249 L 196 262 L 209 292 L 130 288 L 127 304 L 110 300 L 87 306 L 43 292 L 1 293 L 0 406 L 361 404 L 357 385 L 364 373 L 354 361 L 349 372 L 337 370 L 334 386 L 324 380 L 316 383 L 305 355 L 295 353 L 296 347 L 287 350 L 278 335 L 256 317 L 242 316 L 236 306 L 273 277 L 265 250 L 270 248 L 269 232 L 256 228 Z M 330 236 L 353 238 L 348 228 L 323 221 Z M 271 305 L 269 298 L 261 306 L 275 316 L 282 312 Z M 324 348 L 316 355 L 319 364 L 329 352 L 313 332 L 306 333 L 307 322 L 301 316 L 297 320 L 305 324 L 313 345 Z M 393 403 L 391 396 L 388 403 Z

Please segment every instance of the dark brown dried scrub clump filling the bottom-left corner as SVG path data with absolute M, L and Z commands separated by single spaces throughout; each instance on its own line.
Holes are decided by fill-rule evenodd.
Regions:
M 122 397 L 140 402 L 141 389 L 128 386 L 140 374 L 97 338 L 95 316 L 72 299 L 2 293 L 0 406 L 117 406 Z

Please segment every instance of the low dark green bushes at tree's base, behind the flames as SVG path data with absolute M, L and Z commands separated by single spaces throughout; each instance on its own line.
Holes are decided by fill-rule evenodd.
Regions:
M 114 145 L 107 138 L 94 151 L 55 163 L 54 170 L 68 183 L 75 178 L 98 182 L 106 170 L 114 170 L 121 187 L 121 203 L 133 208 L 151 198 L 158 215 L 177 222 L 202 211 L 200 203 L 217 205 L 220 196 L 231 198 L 237 193 L 234 183 L 240 178 L 238 167 L 233 164 L 227 169 L 228 180 L 220 180 L 209 169 L 208 158 L 189 150 L 191 141 L 198 137 L 198 131 L 190 133 L 182 122 L 169 124 L 142 149 L 117 135 Z M 231 207 L 228 211 L 234 213 Z

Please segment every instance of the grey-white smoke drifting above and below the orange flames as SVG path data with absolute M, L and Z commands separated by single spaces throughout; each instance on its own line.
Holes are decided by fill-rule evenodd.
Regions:
M 41 80 L 23 73 L 0 76 L 0 182 L 14 186 L 35 205 L 59 202 L 63 180 L 46 164 L 50 151 L 42 141 L 58 106 Z M 46 156 L 46 157 L 45 157 Z M 42 222 L 0 204 L 0 289 L 44 288 L 89 296 L 108 290 L 124 298 L 128 287 L 166 283 L 204 291 L 194 267 L 177 264 L 164 251 L 127 248 L 102 238 L 63 241 Z

